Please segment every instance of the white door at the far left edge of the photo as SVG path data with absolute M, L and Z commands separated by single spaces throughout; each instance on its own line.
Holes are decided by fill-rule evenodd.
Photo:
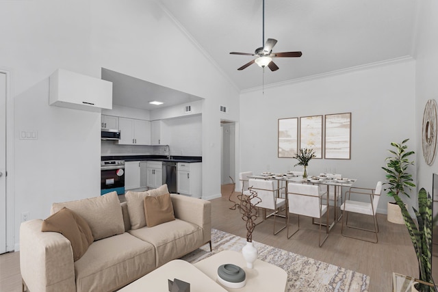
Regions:
M 0 73 L 0 254 L 6 252 L 6 75 Z

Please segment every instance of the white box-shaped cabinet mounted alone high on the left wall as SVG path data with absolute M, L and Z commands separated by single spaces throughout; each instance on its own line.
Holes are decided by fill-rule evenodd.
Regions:
M 112 109 L 112 82 L 57 69 L 50 76 L 49 105 L 98 112 Z

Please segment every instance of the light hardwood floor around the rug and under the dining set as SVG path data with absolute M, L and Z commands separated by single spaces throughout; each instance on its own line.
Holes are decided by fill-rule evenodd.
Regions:
M 224 185 L 222 198 L 211 200 L 212 227 L 245 238 L 246 228 L 239 211 L 229 209 L 230 193 L 231 185 Z M 365 222 L 368 218 L 358 219 Z M 273 235 L 273 222 L 270 217 L 257 225 L 253 240 L 367 274 L 371 292 L 391 291 L 393 271 L 417 277 L 417 259 L 407 229 L 387 222 L 386 215 L 378 215 L 378 243 L 343 237 L 339 222 L 322 248 L 318 247 L 318 226 L 311 224 L 309 218 L 300 217 L 300 231 L 291 239 L 287 239 L 286 230 Z M 296 217 L 291 218 L 291 223 L 296 223 Z M 19 252 L 0 255 L 0 291 L 21 291 Z

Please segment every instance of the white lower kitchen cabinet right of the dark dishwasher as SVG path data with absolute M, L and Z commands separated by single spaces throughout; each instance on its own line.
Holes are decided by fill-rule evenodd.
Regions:
M 177 192 L 178 194 L 201 198 L 202 192 L 202 163 L 177 164 Z

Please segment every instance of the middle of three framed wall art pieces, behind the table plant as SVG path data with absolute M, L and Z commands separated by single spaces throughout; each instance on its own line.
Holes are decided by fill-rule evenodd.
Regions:
M 322 116 L 300 117 L 300 148 L 312 148 L 322 158 Z

